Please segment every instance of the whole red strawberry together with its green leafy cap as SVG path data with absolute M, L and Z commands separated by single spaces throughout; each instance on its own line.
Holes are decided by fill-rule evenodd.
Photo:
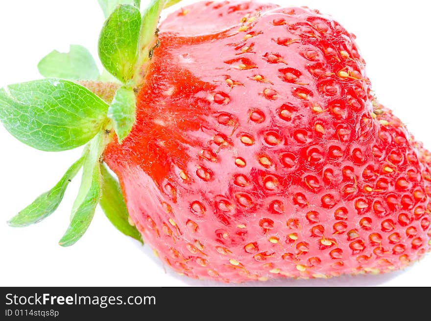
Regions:
M 184 7 L 159 32 L 176 2 L 102 6 L 114 78 L 74 45 L 42 59 L 47 79 L 0 88 L 0 121 L 25 144 L 87 144 L 11 226 L 52 214 L 83 168 L 59 244 L 99 203 L 193 278 L 383 273 L 430 251 L 431 153 L 371 94 L 353 35 L 308 8 L 228 1 Z

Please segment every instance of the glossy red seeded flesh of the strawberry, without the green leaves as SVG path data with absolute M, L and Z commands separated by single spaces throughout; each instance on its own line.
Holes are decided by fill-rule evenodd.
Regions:
M 431 248 L 431 154 L 308 8 L 198 2 L 160 25 L 136 123 L 104 160 L 144 241 L 224 282 L 383 273 Z

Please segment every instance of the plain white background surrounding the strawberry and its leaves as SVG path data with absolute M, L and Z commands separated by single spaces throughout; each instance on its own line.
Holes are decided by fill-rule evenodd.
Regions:
M 146 1 L 142 1 L 145 4 Z M 183 1 L 188 3 L 193 1 Z M 424 0 L 273 0 L 308 5 L 331 14 L 357 43 L 380 101 L 431 148 L 431 2 Z M 176 5 L 177 8 L 179 5 Z M 82 44 L 97 56 L 104 18 L 96 0 L 1 1 L 0 87 L 39 79 L 37 63 L 52 49 Z M 79 179 L 58 210 L 42 223 L 11 228 L 6 220 L 50 189 L 80 154 L 33 150 L 0 125 L 0 285 L 1 286 L 199 286 L 224 285 L 177 276 L 120 234 L 97 209 L 87 233 L 74 246 L 57 245 L 68 226 Z M 406 271 L 329 280 L 276 280 L 245 285 L 431 286 L 431 254 Z

